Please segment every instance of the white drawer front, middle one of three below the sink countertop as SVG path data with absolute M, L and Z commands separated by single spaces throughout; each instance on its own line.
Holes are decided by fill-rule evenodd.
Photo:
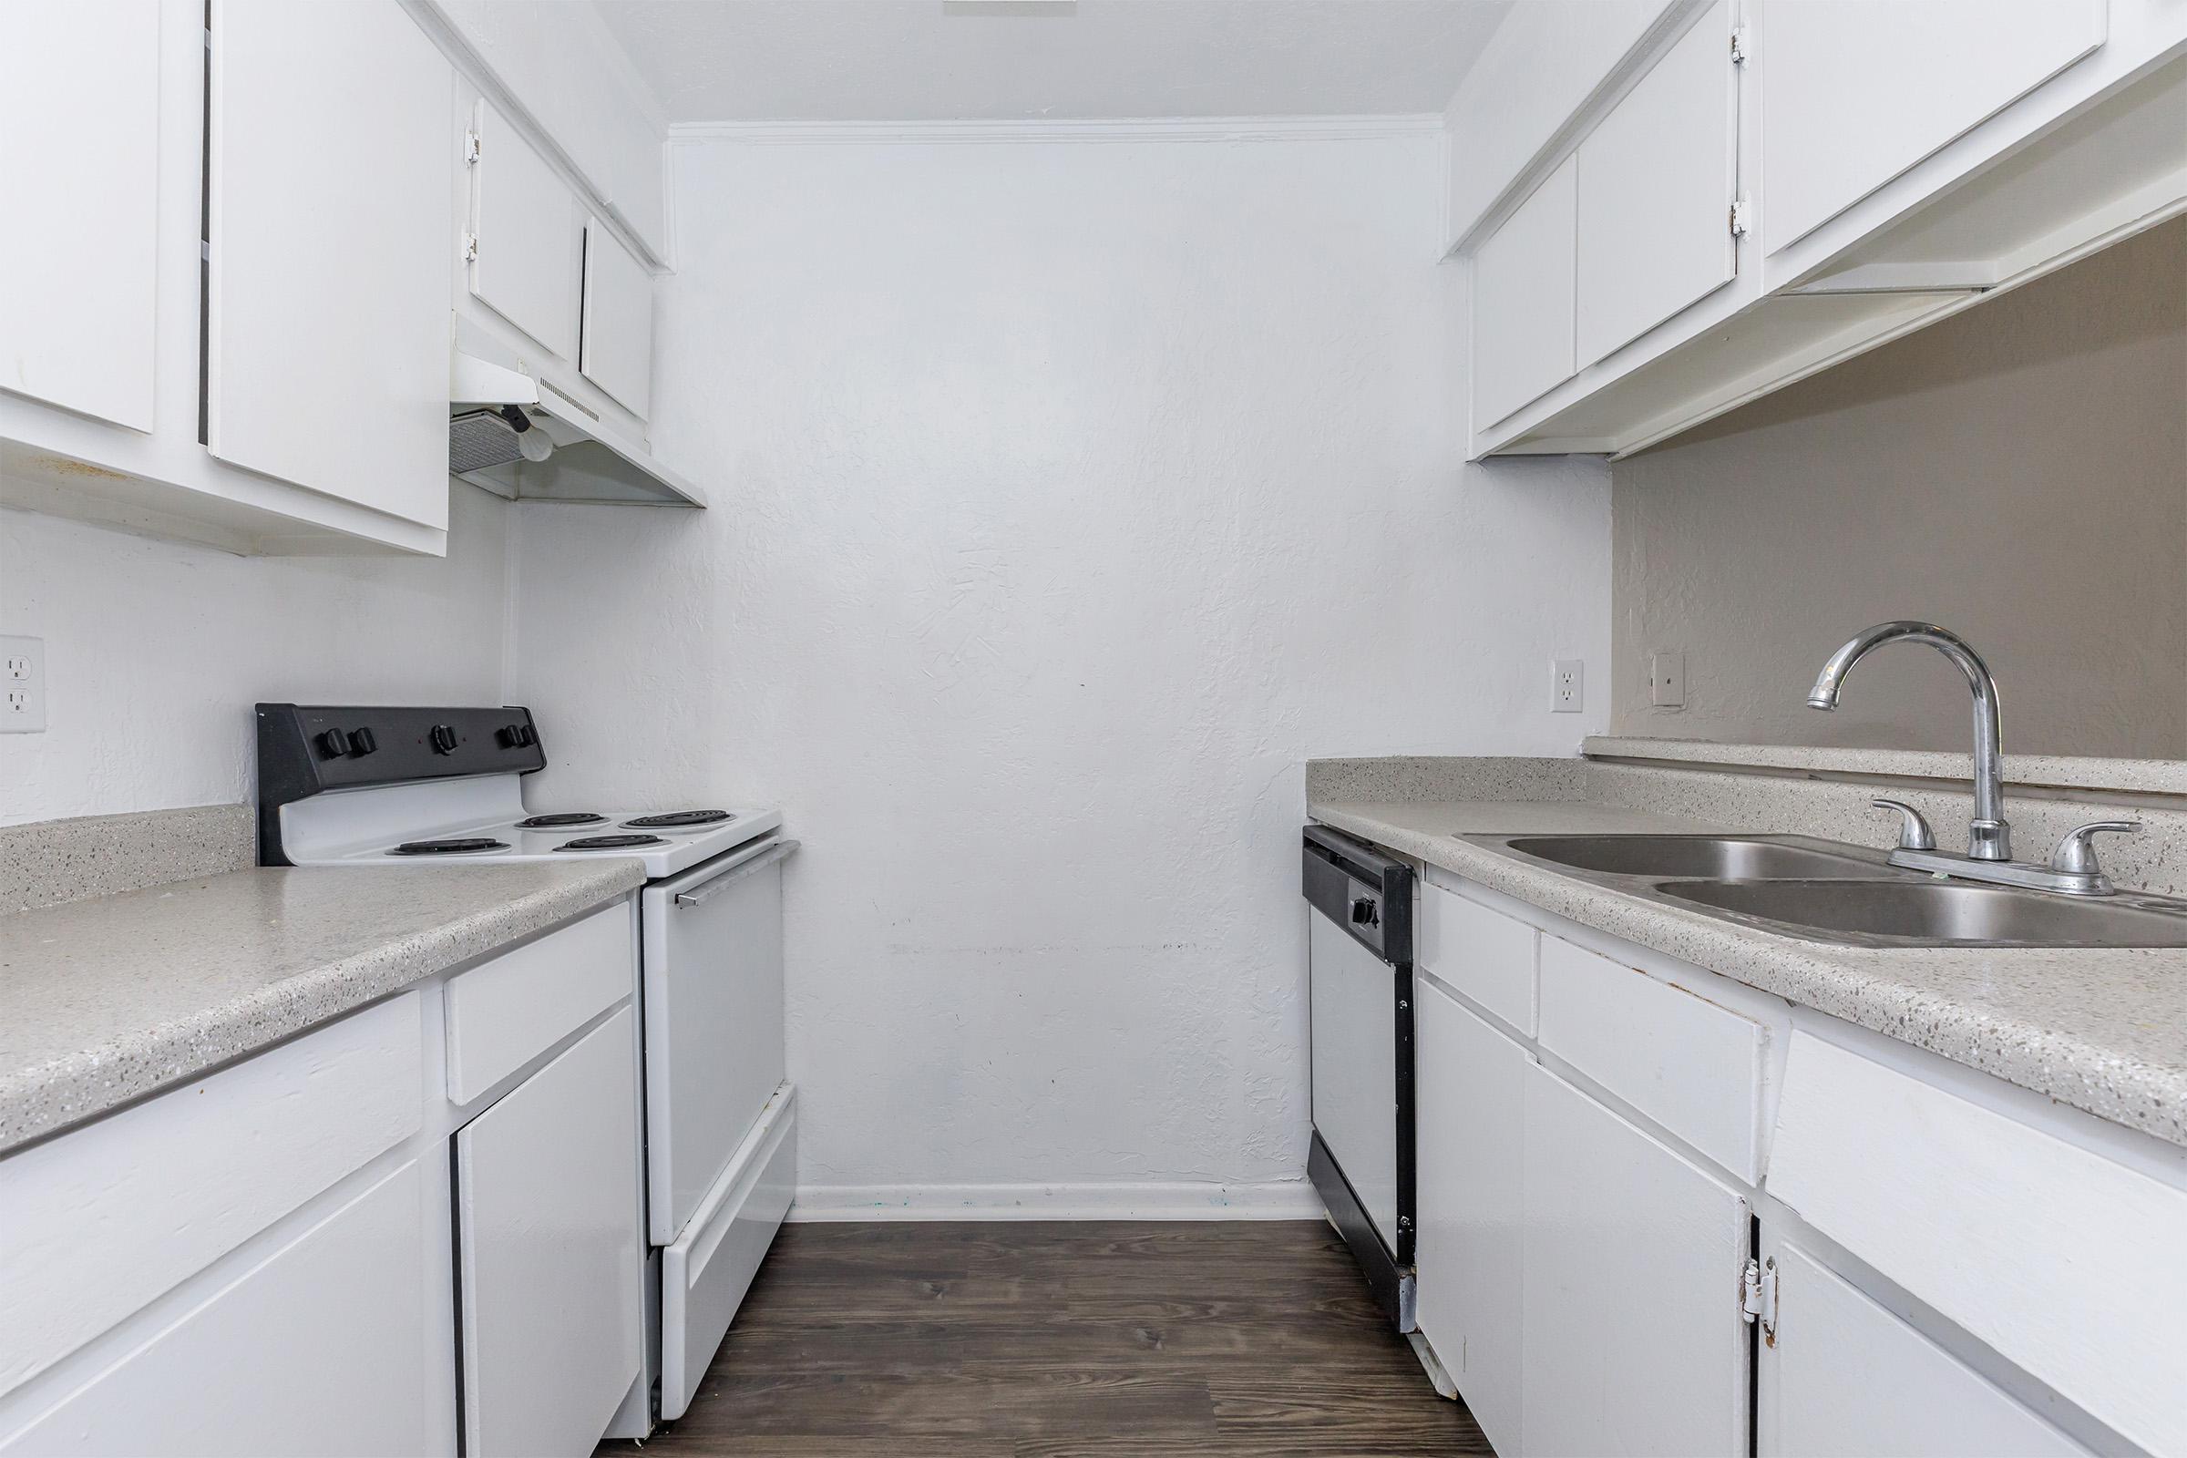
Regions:
M 1767 1036 L 1684 988 L 1542 938 L 1542 1047 L 1747 1183 L 1761 1178 Z

